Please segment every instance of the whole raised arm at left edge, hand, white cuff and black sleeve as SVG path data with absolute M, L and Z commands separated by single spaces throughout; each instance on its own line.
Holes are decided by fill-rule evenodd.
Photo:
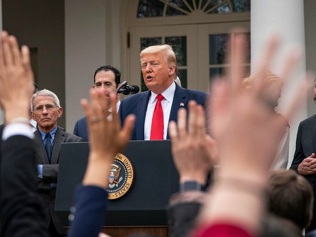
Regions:
M 48 237 L 36 189 L 35 148 L 29 124 L 33 94 L 30 52 L 25 45 L 20 51 L 15 37 L 5 31 L 0 34 L 0 51 L 0 108 L 6 122 L 0 125 L 1 236 Z

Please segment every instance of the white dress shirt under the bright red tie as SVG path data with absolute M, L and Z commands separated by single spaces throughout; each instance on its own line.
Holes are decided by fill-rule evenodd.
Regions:
M 174 91 L 176 90 L 176 85 L 173 82 L 165 91 L 161 93 L 164 99 L 161 101 L 161 107 L 163 111 L 163 139 L 167 138 L 168 122 L 170 117 L 170 111 L 174 96 Z M 150 140 L 150 132 L 152 129 L 152 119 L 157 102 L 157 94 L 152 91 L 152 94 L 148 101 L 145 125 L 144 125 L 144 140 Z

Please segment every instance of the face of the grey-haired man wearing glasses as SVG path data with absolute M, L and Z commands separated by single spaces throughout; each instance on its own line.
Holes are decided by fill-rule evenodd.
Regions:
M 52 96 L 39 95 L 35 97 L 34 111 L 31 111 L 31 117 L 37 121 L 41 131 L 50 132 L 57 126 L 57 118 L 60 118 L 62 114 L 63 109 L 57 108 Z

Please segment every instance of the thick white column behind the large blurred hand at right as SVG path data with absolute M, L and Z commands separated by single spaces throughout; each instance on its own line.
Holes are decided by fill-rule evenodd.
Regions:
M 263 44 L 268 36 L 277 34 L 282 38 L 282 46 L 277 51 L 276 60 L 271 62 L 271 71 L 280 74 L 280 65 L 284 63 L 289 48 L 295 46 L 302 49 L 302 58 L 298 70 L 291 72 L 290 84 L 283 88 L 279 106 L 293 95 L 298 86 L 299 76 L 306 71 L 305 66 L 305 31 L 304 31 L 304 2 L 303 0 L 251 0 L 251 72 L 255 70 L 255 62 L 262 55 Z M 311 82 L 311 86 L 313 82 Z M 282 110 L 280 109 L 280 113 Z M 299 122 L 307 118 L 306 102 L 290 121 L 290 166 L 294 151 Z

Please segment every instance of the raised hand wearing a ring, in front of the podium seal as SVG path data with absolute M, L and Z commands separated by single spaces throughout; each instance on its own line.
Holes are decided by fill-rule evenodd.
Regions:
M 130 115 L 125 119 L 123 128 L 120 129 L 116 96 L 110 96 L 112 119 L 108 119 L 107 103 L 100 103 L 100 98 L 95 90 L 90 90 L 91 106 L 87 100 L 81 100 L 84 109 L 90 140 L 90 154 L 88 166 L 82 184 L 95 185 L 106 188 L 108 185 L 108 171 L 113 158 L 127 145 L 133 131 L 135 116 Z M 106 100 L 106 98 L 102 98 Z

